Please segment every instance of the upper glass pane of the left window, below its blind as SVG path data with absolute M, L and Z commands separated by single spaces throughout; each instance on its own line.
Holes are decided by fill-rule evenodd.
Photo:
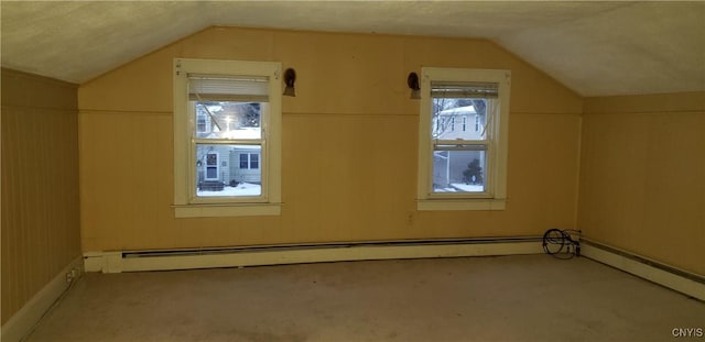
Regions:
M 196 137 L 261 139 L 260 102 L 193 101 Z

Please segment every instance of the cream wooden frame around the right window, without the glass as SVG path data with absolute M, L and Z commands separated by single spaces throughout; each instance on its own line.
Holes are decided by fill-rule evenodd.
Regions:
M 434 194 L 432 139 L 432 81 L 498 84 L 498 113 L 487 118 L 488 150 L 486 191 Z M 509 90 L 511 71 L 499 69 L 436 68 L 421 69 L 421 111 L 419 123 L 417 210 L 505 210 L 507 200 L 507 154 L 509 133 Z

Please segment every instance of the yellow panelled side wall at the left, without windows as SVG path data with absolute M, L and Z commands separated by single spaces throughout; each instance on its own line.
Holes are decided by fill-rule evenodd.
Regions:
M 2 69 L 2 319 L 80 256 L 77 86 Z

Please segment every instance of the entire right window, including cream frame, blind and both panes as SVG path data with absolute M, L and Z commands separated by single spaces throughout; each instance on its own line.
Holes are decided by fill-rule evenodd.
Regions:
M 422 68 L 419 210 L 505 209 L 509 88 L 508 70 Z

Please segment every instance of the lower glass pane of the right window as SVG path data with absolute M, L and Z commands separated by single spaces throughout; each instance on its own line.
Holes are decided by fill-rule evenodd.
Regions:
M 486 151 L 433 152 L 433 192 L 484 192 Z

